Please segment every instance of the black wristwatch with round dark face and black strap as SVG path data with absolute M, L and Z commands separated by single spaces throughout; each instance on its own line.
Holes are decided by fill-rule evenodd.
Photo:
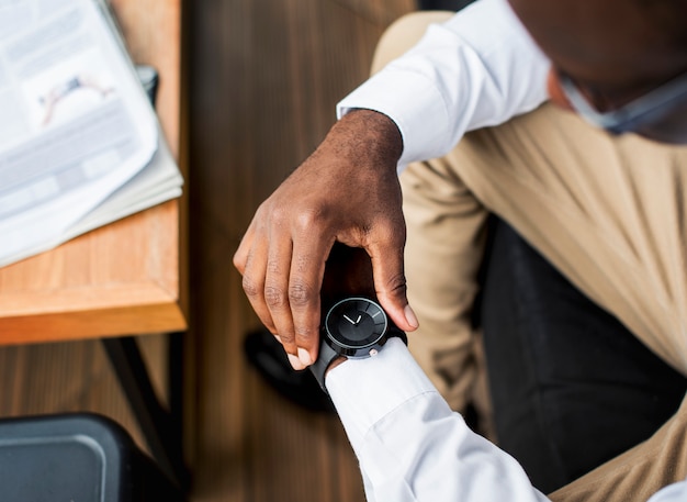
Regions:
M 406 334 L 394 325 L 379 303 L 351 297 L 335 303 L 324 315 L 319 355 L 311 371 L 325 389 L 325 372 L 339 356 L 364 359 L 376 356 L 386 341 L 397 336 L 407 345 Z

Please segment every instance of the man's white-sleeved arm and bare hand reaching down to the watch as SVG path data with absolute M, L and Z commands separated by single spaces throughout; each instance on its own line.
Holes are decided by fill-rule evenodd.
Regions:
M 317 356 L 319 287 L 335 242 L 367 250 L 380 303 L 402 330 L 417 327 L 405 294 L 397 165 L 543 99 L 541 56 L 505 0 L 480 0 L 455 19 L 342 102 L 357 110 L 258 209 L 234 257 L 251 305 L 296 369 Z

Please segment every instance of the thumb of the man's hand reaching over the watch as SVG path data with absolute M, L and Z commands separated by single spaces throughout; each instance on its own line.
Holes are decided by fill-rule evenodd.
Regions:
M 370 249 L 372 276 L 376 298 L 398 328 L 410 332 L 419 322 L 406 297 L 406 279 L 403 271 L 403 246 L 399 248 Z

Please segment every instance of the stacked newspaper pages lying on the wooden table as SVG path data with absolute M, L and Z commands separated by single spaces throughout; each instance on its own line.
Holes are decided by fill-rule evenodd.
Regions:
M 102 3 L 0 0 L 0 265 L 159 200 L 150 185 L 132 188 L 146 166 L 171 183 L 158 192 L 178 197 L 180 176 L 166 147 L 156 155 L 160 142 Z

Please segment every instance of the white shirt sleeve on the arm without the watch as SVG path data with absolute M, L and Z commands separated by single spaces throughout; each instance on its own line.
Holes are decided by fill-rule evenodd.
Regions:
M 399 169 L 448 153 L 466 131 L 500 124 L 547 99 L 550 63 L 506 0 L 478 0 L 433 24 L 337 105 L 390 116 L 403 136 Z

